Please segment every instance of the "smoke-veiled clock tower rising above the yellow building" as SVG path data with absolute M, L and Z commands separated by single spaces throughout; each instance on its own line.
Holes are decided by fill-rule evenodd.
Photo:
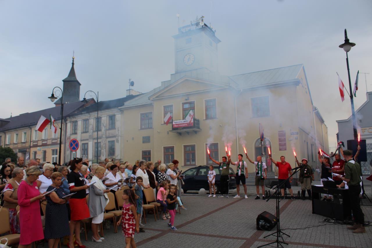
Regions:
M 215 31 L 203 22 L 203 17 L 180 27 L 174 38 L 175 73 L 205 68 L 218 71 Z

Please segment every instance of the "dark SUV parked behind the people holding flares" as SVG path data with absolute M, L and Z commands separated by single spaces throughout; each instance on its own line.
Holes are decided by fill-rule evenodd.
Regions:
M 219 166 L 213 166 L 214 171 L 216 172 L 215 178 L 215 186 L 217 187 L 217 193 L 219 192 L 219 178 L 221 177 L 221 170 Z M 186 193 L 187 190 L 200 190 L 204 188 L 206 191 L 209 191 L 209 184 L 208 184 L 208 171 L 209 166 L 201 165 L 196 166 L 190 169 L 187 169 L 185 172 L 182 172 L 185 177 L 183 181 L 185 182 L 182 185 L 183 193 Z M 234 171 L 230 168 L 230 182 L 229 182 L 229 189 L 236 188 L 235 183 L 235 174 Z

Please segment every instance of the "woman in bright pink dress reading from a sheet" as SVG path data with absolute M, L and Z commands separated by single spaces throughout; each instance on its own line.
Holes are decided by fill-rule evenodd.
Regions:
M 20 222 L 19 248 L 30 248 L 32 242 L 44 239 L 41 223 L 40 203 L 44 197 L 40 194 L 36 179 L 41 175 L 37 166 L 26 169 L 26 179 L 19 184 L 17 196 Z

